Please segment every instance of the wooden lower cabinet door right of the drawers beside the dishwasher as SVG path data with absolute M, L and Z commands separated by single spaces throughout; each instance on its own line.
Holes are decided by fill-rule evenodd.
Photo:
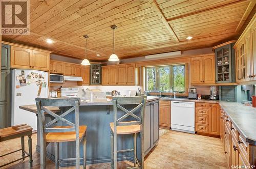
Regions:
M 209 104 L 209 133 L 220 135 L 220 106 L 218 103 Z

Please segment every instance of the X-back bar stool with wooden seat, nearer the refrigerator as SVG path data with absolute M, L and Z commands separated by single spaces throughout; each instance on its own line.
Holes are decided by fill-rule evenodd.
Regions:
M 59 143 L 60 142 L 76 142 L 76 158 L 65 160 L 76 160 L 76 168 L 80 165 L 80 142 L 83 140 L 83 168 L 86 168 L 86 129 L 87 126 L 79 126 L 79 105 L 80 98 L 68 99 L 47 99 L 36 98 L 36 107 L 38 114 L 38 122 L 40 129 L 40 166 L 46 168 L 46 147 L 49 143 L 54 143 L 55 151 L 55 168 L 59 166 Z M 67 107 L 72 106 L 60 116 L 47 109 L 45 106 Z M 75 124 L 66 120 L 66 115 L 75 110 Z M 53 116 L 55 119 L 46 124 L 45 113 Z M 53 126 L 55 122 L 62 121 L 69 126 Z

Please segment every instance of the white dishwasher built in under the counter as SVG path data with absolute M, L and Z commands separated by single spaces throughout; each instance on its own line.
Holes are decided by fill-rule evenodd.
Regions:
M 170 109 L 172 130 L 195 134 L 195 102 L 171 101 Z

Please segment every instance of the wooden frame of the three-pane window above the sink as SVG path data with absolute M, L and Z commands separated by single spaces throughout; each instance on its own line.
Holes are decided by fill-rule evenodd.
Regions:
M 173 67 L 175 66 L 184 66 L 184 92 L 182 93 L 179 93 L 177 91 L 174 91 L 174 79 L 173 79 L 173 76 L 174 76 L 174 71 L 173 71 Z M 156 69 L 156 91 L 150 91 L 150 92 L 160 92 L 160 73 L 159 73 L 159 69 L 160 68 L 164 68 L 164 67 L 169 67 L 169 91 L 168 92 L 164 92 L 164 91 L 161 91 L 162 93 L 179 93 L 179 94 L 187 94 L 187 86 L 188 86 L 188 80 L 187 80 L 187 76 L 188 76 L 188 72 L 187 72 L 187 64 L 186 63 L 181 63 L 181 64 L 172 64 L 172 65 L 159 65 L 159 66 L 148 66 L 148 67 L 144 67 L 145 68 L 145 78 L 144 78 L 144 81 L 145 81 L 145 91 L 148 91 L 147 89 L 147 69 L 150 69 L 150 68 L 155 68 Z M 173 90 L 173 92 L 170 92 L 170 89 Z

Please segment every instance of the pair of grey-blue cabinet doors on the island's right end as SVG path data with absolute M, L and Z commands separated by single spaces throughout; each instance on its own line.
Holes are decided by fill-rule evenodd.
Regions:
M 144 155 L 150 152 L 159 140 L 159 100 L 146 103 L 144 118 Z

